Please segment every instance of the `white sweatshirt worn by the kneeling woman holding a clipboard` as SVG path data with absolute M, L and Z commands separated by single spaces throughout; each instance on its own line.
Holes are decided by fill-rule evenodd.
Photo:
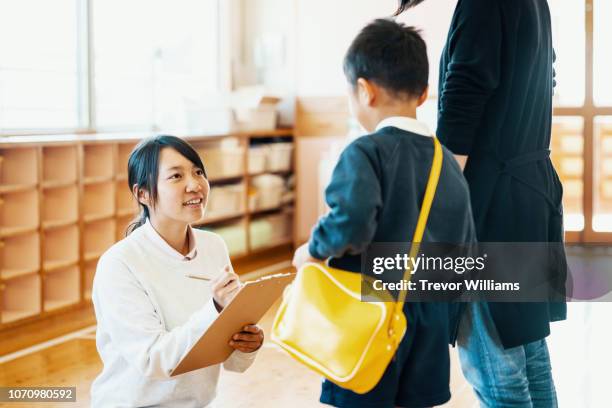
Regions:
M 93 304 L 96 346 L 104 363 L 91 388 L 93 407 L 206 407 L 220 366 L 169 377 L 218 313 L 210 282 L 230 263 L 216 234 L 189 228 L 183 256 L 147 222 L 113 245 L 98 262 Z M 244 371 L 256 353 L 234 351 L 223 364 Z

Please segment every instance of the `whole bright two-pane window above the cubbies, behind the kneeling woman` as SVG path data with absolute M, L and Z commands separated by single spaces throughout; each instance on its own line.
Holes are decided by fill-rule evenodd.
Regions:
M 0 0 L 0 133 L 188 127 L 225 90 L 220 1 Z

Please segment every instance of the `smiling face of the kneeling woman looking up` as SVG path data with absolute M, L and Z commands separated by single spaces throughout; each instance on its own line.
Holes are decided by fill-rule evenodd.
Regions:
M 170 147 L 159 153 L 157 201 L 151 215 L 161 222 L 192 224 L 202 219 L 210 186 L 204 170 Z

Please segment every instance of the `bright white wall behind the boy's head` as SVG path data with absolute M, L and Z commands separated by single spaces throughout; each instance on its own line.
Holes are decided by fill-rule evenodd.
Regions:
M 399 21 L 423 30 L 431 63 L 432 91 L 437 90 L 438 62 L 456 0 L 428 0 Z M 333 96 L 346 92 L 342 59 L 369 21 L 390 16 L 396 0 L 242 0 L 242 60 L 237 84 L 265 82 L 298 96 Z M 282 64 L 255 69 L 254 49 L 263 38 L 283 38 Z

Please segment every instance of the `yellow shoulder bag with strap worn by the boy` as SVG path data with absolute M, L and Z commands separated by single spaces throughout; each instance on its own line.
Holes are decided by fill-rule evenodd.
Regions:
M 423 239 L 442 157 L 440 142 L 434 138 L 434 159 L 411 257 L 417 256 Z M 404 279 L 411 275 L 407 270 Z M 378 384 L 406 332 L 402 310 L 406 291 L 400 291 L 397 302 L 384 293 L 379 294 L 380 302 L 365 302 L 361 278 L 359 273 L 323 263 L 305 264 L 276 314 L 271 338 L 300 363 L 342 388 L 364 394 Z

